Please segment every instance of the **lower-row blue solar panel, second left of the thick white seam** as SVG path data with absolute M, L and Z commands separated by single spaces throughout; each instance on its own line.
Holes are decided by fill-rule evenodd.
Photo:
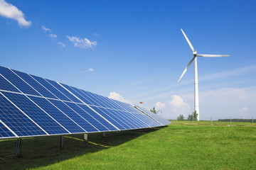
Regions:
M 59 108 L 63 113 L 68 115 L 72 120 L 75 121 L 75 123 L 78 123 L 81 128 L 86 130 L 87 132 L 98 132 L 98 130 L 93 127 L 85 118 L 82 118 L 82 116 L 78 115 L 75 111 L 73 111 L 69 106 L 67 106 L 62 101 L 55 101 L 55 100 L 49 100 L 50 103 L 53 103 L 57 108 Z

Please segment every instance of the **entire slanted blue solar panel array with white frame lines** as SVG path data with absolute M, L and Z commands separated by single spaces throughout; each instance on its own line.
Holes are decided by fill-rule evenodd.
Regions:
M 0 67 L 0 139 L 153 128 L 168 120 L 111 98 Z

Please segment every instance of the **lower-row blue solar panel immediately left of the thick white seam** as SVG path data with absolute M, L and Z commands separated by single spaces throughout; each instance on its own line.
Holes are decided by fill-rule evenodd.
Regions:
M 105 120 L 102 119 L 102 121 L 99 120 L 100 115 L 97 115 L 97 113 L 93 112 L 92 110 L 90 110 L 90 108 L 87 108 L 88 111 L 92 111 L 89 113 L 87 113 L 86 111 L 82 110 L 82 108 L 80 108 L 77 104 L 75 103 L 70 103 L 70 102 L 65 102 L 66 105 L 68 105 L 70 108 L 72 108 L 76 113 L 78 113 L 79 115 L 82 116 L 82 118 L 85 118 L 85 120 L 87 120 L 91 125 L 93 125 L 95 128 L 97 128 L 97 130 L 103 132 L 103 131 L 109 131 L 109 129 L 107 129 L 105 127 L 105 125 L 102 125 L 102 121 L 107 123 Z M 85 106 L 86 107 L 86 106 Z M 101 117 L 100 117 L 101 118 Z M 107 123 L 108 125 L 110 125 L 109 123 Z M 111 125 L 112 126 L 112 125 Z

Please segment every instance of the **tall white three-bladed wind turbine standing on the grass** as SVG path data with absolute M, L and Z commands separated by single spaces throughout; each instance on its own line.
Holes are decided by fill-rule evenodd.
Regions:
M 194 50 L 191 42 L 188 40 L 186 34 L 184 33 L 184 31 L 181 29 L 184 37 L 186 38 L 186 41 L 188 42 L 189 47 L 191 47 L 191 50 L 193 52 L 193 58 L 190 62 L 188 62 L 188 65 L 186 66 L 184 72 L 181 74 L 181 77 L 178 79 L 178 81 L 181 80 L 181 78 L 183 77 L 183 75 L 186 73 L 188 67 L 191 65 L 191 63 L 194 61 L 195 64 L 195 94 L 194 94 L 194 103 L 195 103 L 195 111 L 196 113 L 198 113 L 198 121 L 199 121 L 199 97 L 198 97 L 198 69 L 197 69 L 197 57 L 228 57 L 229 55 L 198 55 L 196 50 Z

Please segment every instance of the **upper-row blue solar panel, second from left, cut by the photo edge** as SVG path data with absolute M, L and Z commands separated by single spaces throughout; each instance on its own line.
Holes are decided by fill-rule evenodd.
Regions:
M 14 86 L 16 86 L 24 94 L 32 94 L 32 95 L 36 95 L 36 96 L 41 96 L 40 94 L 38 94 L 38 92 L 34 91 L 31 88 L 31 86 L 28 86 L 28 84 L 26 84 L 25 81 L 23 81 L 16 74 L 14 74 L 14 72 L 11 72 L 10 69 L 0 66 L 0 73 L 6 79 L 11 81 L 11 83 L 14 84 Z

